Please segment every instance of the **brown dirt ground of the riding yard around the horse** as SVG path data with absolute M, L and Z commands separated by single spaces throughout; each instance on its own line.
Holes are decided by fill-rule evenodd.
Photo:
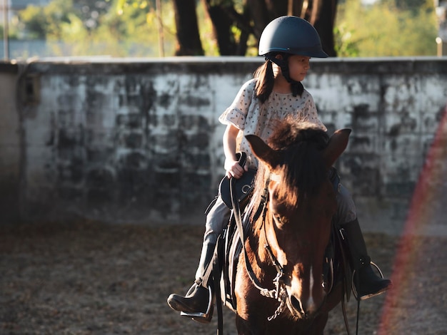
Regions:
M 203 229 L 0 226 L 0 334 L 216 334 L 216 315 L 211 324 L 199 324 L 166 304 L 171 292 L 184 293 L 193 280 Z M 394 287 L 362 301 L 358 334 L 447 334 L 447 238 L 403 244 L 396 236 L 365 236 Z M 396 257 L 398 250 L 406 257 Z M 353 299 L 348 316 L 355 334 Z M 224 334 L 236 334 L 228 309 Z M 346 334 L 340 307 L 325 334 Z

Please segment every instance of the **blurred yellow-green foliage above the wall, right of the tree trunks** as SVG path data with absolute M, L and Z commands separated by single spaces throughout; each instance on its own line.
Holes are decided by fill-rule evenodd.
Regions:
M 346 0 L 339 4 L 335 29 L 338 56 L 436 55 L 433 2 L 410 6 L 420 2 L 390 0 L 365 6 L 359 0 Z

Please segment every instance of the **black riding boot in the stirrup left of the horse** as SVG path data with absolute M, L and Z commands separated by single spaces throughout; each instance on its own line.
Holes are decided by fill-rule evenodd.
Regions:
M 186 292 L 185 297 L 179 294 L 171 294 L 168 297 L 168 304 L 171 309 L 181 311 L 182 316 L 189 316 L 202 323 L 208 323 L 213 316 L 211 287 L 202 278 L 213 258 L 214 247 L 214 244 L 205 244 L 202 247 L 199 267 L 196 272 L 196 282 Z

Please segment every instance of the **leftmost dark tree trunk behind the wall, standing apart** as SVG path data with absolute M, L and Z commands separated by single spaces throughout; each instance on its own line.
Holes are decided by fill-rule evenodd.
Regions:
M 204 56 L 195 0 L 174 0 L 177 29 L 176 56 Z

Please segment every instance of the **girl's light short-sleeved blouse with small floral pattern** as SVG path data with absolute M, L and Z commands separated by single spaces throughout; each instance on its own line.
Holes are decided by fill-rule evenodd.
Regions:
M 327 130 L 318 118 L 316 105 L 308 91 L 304 90 L 301 96 L 293 96 L 292 93 L 272 92 L 265 103 L 259 103 L 255 96 L 256 78 L 243 84 L 233 103 L 226 108 L 219 117 L 224 125 L 234 125 L 238 128 L 238 151 L 247 153 L 248 167 L 257 168 L 258 161 L 251 153 L 250 145 L 245 135 L 257 135 L 267 140 L 273 133 L 276 120 L 282 120 L 286 115 L 296 115 L 303 121 L 315 123 L 319 128 Z

